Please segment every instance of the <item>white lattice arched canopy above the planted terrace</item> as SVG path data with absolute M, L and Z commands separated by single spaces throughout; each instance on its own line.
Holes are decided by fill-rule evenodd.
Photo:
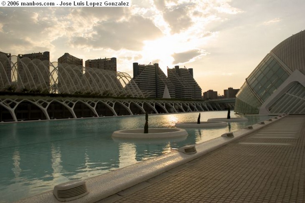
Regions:
M 124 72 L 5 54 L 0 54 L 0 91 L 144 97 Z

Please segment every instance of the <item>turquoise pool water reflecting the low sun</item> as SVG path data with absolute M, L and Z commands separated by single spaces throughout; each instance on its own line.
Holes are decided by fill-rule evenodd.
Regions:
M 195 122 L 198 112 L 149 115 L 149 127 L 174 128 Z M 226 111 L 201 112 L 201 121 L 226 117 Z M 239 117 L 231 113 L 231 117 Z M 186 129 L 185 139 L 113 140 L 113 131 L 143 128 L 145 116 L 0 124 L 0 202 L 13 202 L 52 190 L 57 184 L 86 179 L 237 131 L 268 116 L 245 116 L 225 128 Z

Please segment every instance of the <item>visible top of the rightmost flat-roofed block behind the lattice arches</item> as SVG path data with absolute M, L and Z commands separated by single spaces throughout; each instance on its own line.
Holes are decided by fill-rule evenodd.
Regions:
M 117 58 L 99 58 L 85 61 L 85 66 L 110 71 L 117 71 Z

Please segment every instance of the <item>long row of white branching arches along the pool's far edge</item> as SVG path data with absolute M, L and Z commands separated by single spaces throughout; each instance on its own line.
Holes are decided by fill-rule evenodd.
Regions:
M 208 101 L 78 98 L 48 96 L 0 96 L 0 122 L 52 120 L 214 111 L 234 108 L 235 98 Z

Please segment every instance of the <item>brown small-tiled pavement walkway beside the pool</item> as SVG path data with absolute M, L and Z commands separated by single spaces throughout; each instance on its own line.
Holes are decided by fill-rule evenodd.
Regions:
M 304 136 L 305 115 L 289 115 L 99 202 L 305 202 Z

